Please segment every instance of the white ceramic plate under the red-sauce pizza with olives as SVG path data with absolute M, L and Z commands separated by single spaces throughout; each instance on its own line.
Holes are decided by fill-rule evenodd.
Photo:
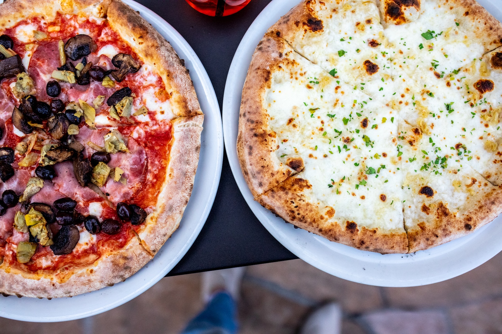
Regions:
M 192 196 L 180 228 L 155 258 L 122 283 L 72 298 L 37 299 L 16 296 L 0 298 L 0 316 L 23 321 L 67 321 L 107 311 L 138 296 L 164 277 L 185 255 L 199 234 L 218 188 L 223 161 L 221 116 L 211 81 L 199 58 L 166 21 L 146 7 L 124 0 L 171 43 L 190 70 L 204 112 L 204 131 Z

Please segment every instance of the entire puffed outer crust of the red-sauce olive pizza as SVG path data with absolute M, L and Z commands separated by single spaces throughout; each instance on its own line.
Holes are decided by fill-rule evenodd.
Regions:
M 44 16 L 48 21 L 57 12 L 85 13 L 106 17 L 111 28 L 130 43 L 140 59 L 156 69 L 173 92 L 175 118 L 166 179 L 157 199 L 157 210 L 148 215 L 141 230 L 121 249 L 103 255 L 88 267 L 71 272 L 33 274 L 0 265 L 0 293 L 38 298 L 71 297 L 126 280 L 140 270 L 160 250 L 179 227 L 188 204 L 200 152 L 204 115 L 195 89 L 174 49 L 152 26 L 120 0 L 8 0 L 0 4 L 0 30 L 17 22 Z

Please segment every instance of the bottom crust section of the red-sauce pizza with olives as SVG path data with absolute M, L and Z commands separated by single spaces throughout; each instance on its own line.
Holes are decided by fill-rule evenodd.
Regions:
M 138 238 L 133 237 L 124 248 L 76 270 L 66 281 L 58 281 L 55 278 L 58 273 L 54 272 L 25 278 L 25 272 L 16 273 L 0 265 L 0 293 L 38 298 L 71 297 L 124 281 L 152 258 Z

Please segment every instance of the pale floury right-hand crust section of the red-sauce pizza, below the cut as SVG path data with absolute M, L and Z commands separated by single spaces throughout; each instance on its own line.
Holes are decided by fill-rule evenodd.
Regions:
M 177 118 L 173 124 L 173 144 L 167 176 L 157 201 L 139 237 L 143 246 L 156 254 L 180 224 L 190 199 L 199 161 L 203 115 Z

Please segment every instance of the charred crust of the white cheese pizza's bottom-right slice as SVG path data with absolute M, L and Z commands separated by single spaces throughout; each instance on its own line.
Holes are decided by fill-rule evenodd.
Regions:
M 457 239 L 495 219 L 502 207 L 502 188 L 490 184 L 481 175 L 476 176 L 478 179 L 471 177 L 465 185 L 468 195 L 460 208 L 435 200 L 432 185 L 420 188 L 416 209 L 421 211 L 421 218 L 407 231 L 410 252 Z

